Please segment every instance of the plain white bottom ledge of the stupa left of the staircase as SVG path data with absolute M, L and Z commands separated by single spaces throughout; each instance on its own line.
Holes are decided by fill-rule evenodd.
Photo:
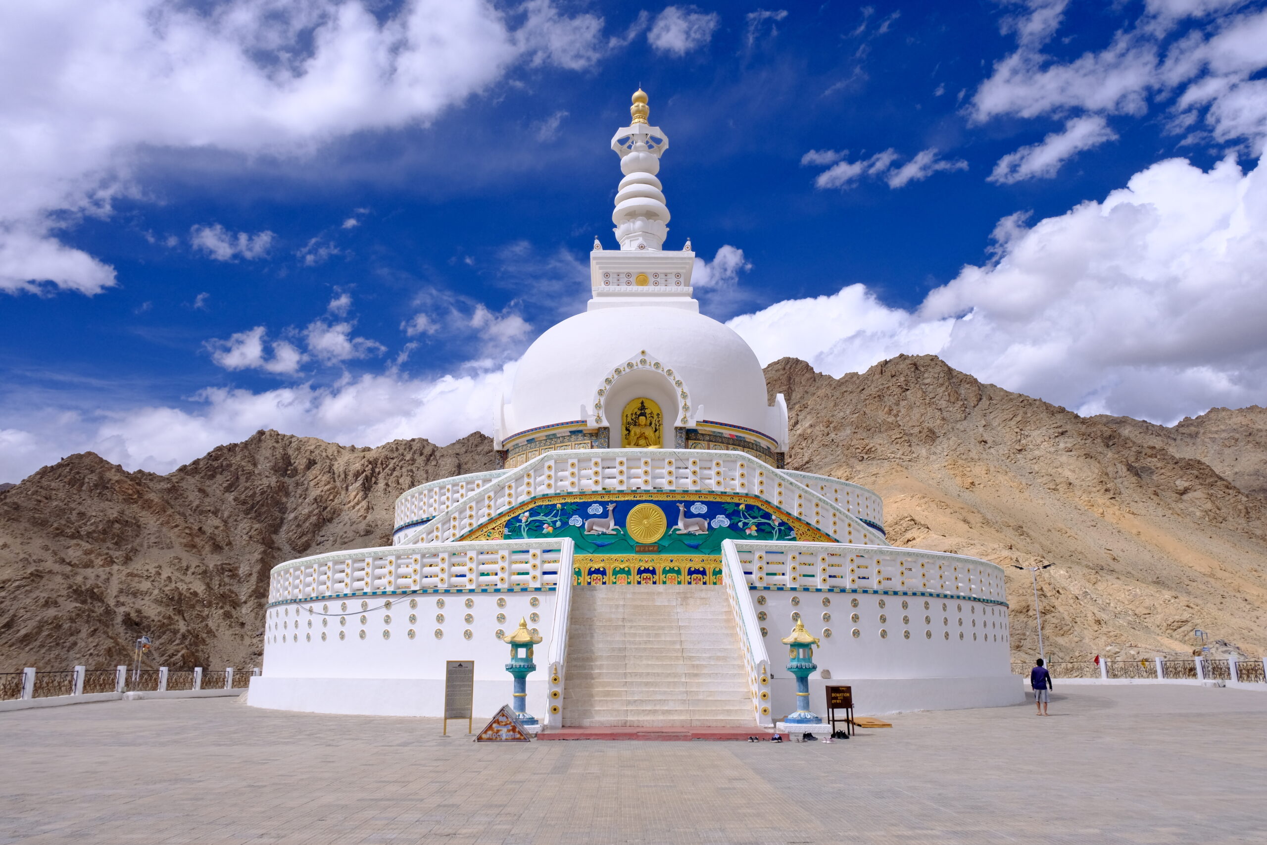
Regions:
M 504 660 L 503 660 L 504 663 Z M 546 673 L 528 677 L 528 712 L 541 718 L 546 708 Z M 511 703 L 511 675 L 497 679 L 475 678 L 473 722 L 483 727 L 503 704 Z M 294 709 L 304 713 L 346 713 L 352 716 L 431 716 L 445 715 L 445 682 L 438 678 L 276 678 L 251 679 L 248 707 Z M 536 709 L 533 709 L 533 707 Z

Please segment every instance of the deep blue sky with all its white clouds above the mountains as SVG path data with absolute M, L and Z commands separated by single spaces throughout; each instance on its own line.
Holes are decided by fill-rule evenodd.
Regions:
M 1262 3 L 61 0 L 0 10 L 0 480 L 275 427 L 488 431 L 614 247 L 763 362 L 898 352 L 1081 413 L 1267 400 Z

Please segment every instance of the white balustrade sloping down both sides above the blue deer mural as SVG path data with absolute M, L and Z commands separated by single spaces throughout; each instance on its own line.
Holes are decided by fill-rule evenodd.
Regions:
M 754 495 L 841 542 L 886 541 L 875 528 L 782 470 L 744 452 L 704 450 L 579 450 L 541 455 L 488 481 L 481 492 L 450 504 L 395 542 L 451 542 L 476 526 L 541 495 L 658 490 L 729 492 Z

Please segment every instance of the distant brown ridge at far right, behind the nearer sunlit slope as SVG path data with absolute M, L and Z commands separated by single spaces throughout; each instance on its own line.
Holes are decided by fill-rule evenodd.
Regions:
M 1092 417 L 1145 446 L 1205 461 L 1245 493 L 1267 498 L 1267 408 L 1211 408 L 1175 426 L 1130 417 Z

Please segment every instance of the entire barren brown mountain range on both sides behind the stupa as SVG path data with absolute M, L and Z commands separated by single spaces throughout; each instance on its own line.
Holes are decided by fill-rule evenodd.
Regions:
M 1195 627 L 1267 651 L 1267 410 L 1215 409 L 1172 428 L 1082 418 L 981 384 L 931 356 L 832 379 L 767 367 L 792 423 L 791 469 L 884 497 L 897 545 L 1006 568 L 1012 647 L 1049 655 L 1187 651 Z M 378 448 L 260 432 L 169 475 L 73 455 L 0 492 L 0 666 L 128 663 L 246 668 L 269 570 L 389 542 L 392 503 L 492 469 L 492 442 Z

